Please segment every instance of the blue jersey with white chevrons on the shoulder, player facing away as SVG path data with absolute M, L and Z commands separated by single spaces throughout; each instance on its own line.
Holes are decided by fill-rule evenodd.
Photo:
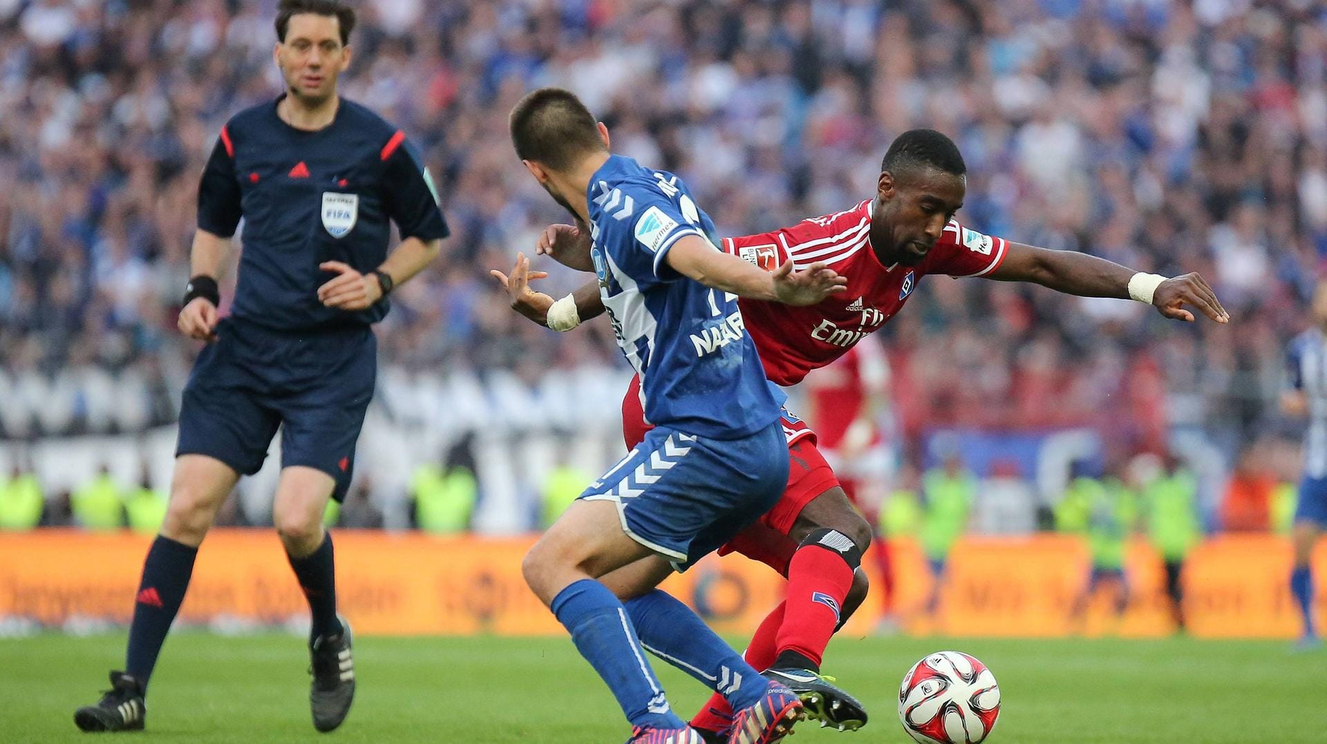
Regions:
M 686 235 L 715 244 L 714 223 L 686 184 L 613 155 L 587 196 L 600 296 L 641 378 L 645 418 L 713 439 L 747 436 L 778 419 L 784 397 L 766 381 L 736 296 L 664 260 Z

